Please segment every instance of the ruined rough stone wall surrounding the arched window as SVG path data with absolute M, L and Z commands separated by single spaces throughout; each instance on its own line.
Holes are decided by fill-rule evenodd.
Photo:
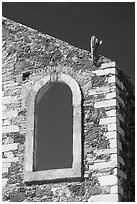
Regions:
M 88 51 L 5 18 L 2 46 L 3 201 L 133 200 L 134 96 L 115 62 L 100 56 L 95 66 Z M 71 76 L 81 87 L 83 178 L 28 185 L 26 96 L 53 72 Z

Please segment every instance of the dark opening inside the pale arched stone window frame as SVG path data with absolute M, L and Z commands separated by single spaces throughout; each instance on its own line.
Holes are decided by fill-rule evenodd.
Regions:
M 34 146 L 34 171 L 72 168 L 72 92 L 64 83 L 51 82 L 37 94 Z

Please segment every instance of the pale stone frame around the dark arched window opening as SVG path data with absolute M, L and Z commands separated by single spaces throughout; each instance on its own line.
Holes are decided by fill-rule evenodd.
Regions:
M 33 171 L 34 162 L 34 114 L 35 98 L 38 91 L 48 82 L 52 81 L 50 75 L 36 82 L 29 91 L 26 99 L 26 141 L 24 182 L 49 181 L 56 179 L 80 178 L 82 176 L 82 139 L 81 139 L 81 90 L 78 83 L 66 74 L 58 74 L 57 81 L 67 84 L 72 91 L 73 105 L 73 162 L 72 168 Z

